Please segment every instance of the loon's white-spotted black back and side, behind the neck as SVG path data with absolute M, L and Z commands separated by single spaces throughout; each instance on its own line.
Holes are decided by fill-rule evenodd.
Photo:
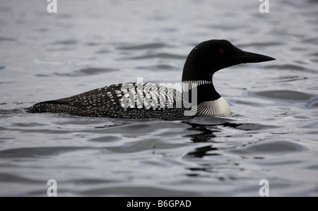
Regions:
M 163 118 L 183 116 L 182 93 L 153 83 L 119 83 L 80 95 L 35 104 L 33 112 L 69 113 L 110 118 Z M 132 117 L 134 116 L 134 117 Z

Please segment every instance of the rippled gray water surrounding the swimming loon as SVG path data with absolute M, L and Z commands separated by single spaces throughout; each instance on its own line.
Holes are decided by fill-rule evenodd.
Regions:
M 318 196 L 318 2 L 0 2 L 0 196 Z M 214 76 L 233 114 L 30 114 L 122 82 L 180 83 L 199 42 L 276 58 Z

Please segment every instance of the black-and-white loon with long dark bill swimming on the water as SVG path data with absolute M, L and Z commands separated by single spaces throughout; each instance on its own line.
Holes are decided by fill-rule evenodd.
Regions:
M 153 83 L 119 83 L 79 95 L 34 104 L 28 111 L 120 119 L 179 119 L 230 115 L 228 103 L 213 86 L 213 74 L 245 63 L 275 60 L 238 49 L 228 40 L 208 40 L 189 53 L 182 92 Z

